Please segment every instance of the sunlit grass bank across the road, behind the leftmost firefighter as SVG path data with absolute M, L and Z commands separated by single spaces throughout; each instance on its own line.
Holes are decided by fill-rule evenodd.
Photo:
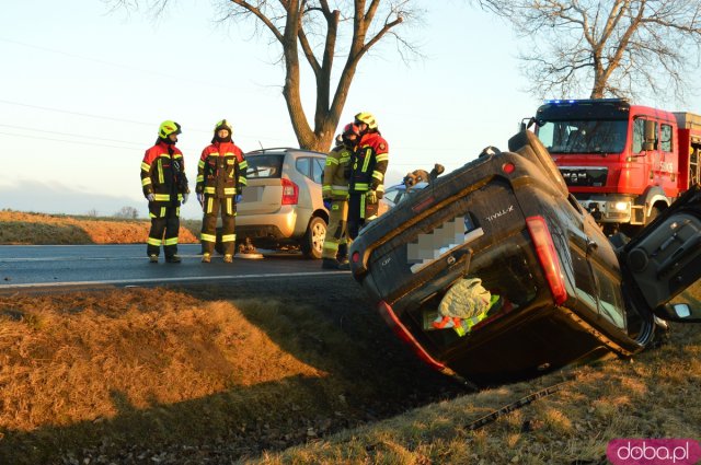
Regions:
M 80 245 L 146 242 L 149 220 L 0 211 L 0 244 Z M 181 221 L 179 242 L 196 243 L 199 221 Z

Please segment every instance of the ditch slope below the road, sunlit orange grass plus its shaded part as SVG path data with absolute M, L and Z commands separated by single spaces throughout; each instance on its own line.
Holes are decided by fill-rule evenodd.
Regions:
M 344 288 L 343 301 L 363 302 Z M 350 328 L 364 335 L 353 338 L 325 314 L 331 307 L 227 292 L 0 297 L 0 463 L 69 454 L 138 463 L 120 454 L 174 447 L 180 456 L 183 446 L 255 456 L 445 395 L 448 380 L 405 353 L 380 321 Z M 340 324 L 375 317 L 363 313 Z M 382 398 L 387 388 L 398 402 Z

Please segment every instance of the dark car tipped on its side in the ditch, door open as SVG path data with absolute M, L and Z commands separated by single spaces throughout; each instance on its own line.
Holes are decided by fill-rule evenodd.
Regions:
M 701 277 L 701 191 L 614 248 L 532 132 L 370 223 L 353 276 L 433 368 L 489 385 L 616 353 L 699 322 L 668 302 Z M 694 313 L 697 312 L 697 313 Z

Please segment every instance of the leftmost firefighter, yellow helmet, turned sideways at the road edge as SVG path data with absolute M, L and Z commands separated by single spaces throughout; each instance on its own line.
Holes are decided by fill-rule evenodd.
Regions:
M 189 194 L 183 152 L 175 147 L 181 132 L 177 123 L 163 121 L 158 129 L 156 144 L 146 151 L 141 162 L 141 187 L 149 200 L 151 217 L 146 253 L 152 264 L 158 263 L 161 244 L 166 263 L 181 261 L 177 255 L 180 205 L 187 201 Z

